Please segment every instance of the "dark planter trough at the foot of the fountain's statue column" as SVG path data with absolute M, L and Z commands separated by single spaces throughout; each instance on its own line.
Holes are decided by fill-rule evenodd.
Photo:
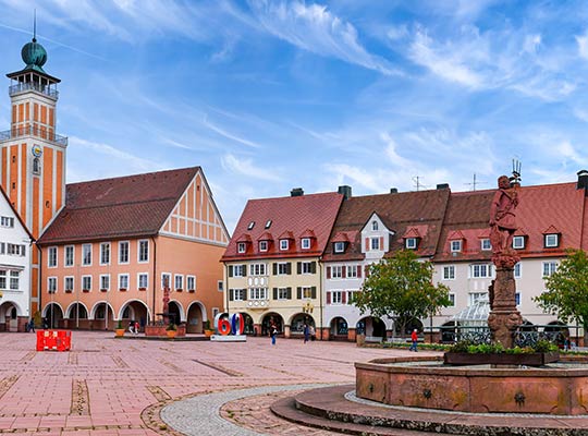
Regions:
M 558 362 L 560 353 L 558 351 L 549 353 L 445 353 L 443 363 L 445 365 L 526 365 L 542 366 L 548 363 Z

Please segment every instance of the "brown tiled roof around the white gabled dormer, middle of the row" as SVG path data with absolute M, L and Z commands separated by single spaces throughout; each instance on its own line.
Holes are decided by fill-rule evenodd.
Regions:
M 416 253 L 419 256 L 432 256 L 437 249 L 445 206 L 450 190 L 391 193 L 351 197 L 343 202 L 341 211 L 332 231 L 333 238 L 324 252 L 326 262 L 359 261 L 362 253 L 362 229 L 373 213 L 378 214 L 385 227 L 394 231 L 391 237 L 391 252 L 404 247 L 403 235 L 411 228 L 418 230 L 420 243 Z M 333 242 L 341 233 L 350 238 L 345 253 L 333 253 Z M 336 240 L 335 240 L 336 239 Z

